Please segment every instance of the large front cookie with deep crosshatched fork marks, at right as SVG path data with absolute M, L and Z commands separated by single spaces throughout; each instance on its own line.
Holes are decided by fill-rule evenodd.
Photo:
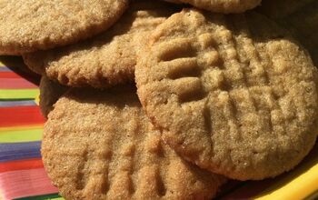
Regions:
M 240 180 L 288 171 L 317 135 L 317 69 L 263 15 L 185 9 L 138 58 L 145 113 L 185 159 Z

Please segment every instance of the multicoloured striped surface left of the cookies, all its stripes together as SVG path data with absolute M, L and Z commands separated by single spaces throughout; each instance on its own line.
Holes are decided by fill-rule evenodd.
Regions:
M 41 160 L 45 119 L 35 103 L 39 90 L 25 79 L 32 75 L 12 64 L 0 63 L 0 199 L 59 199 Z

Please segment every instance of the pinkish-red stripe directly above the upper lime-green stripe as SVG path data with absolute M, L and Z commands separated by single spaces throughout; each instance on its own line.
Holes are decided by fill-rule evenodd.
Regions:
M 1 89 L 33 89 L 37 88 L 31 82 L 26 81 L 25 79 L 17 78 L 0 78 L 0 88 Z

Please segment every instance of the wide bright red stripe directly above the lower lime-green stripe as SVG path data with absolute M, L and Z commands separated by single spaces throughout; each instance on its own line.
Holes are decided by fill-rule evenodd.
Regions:
M 0 127 L 15 125 L 41 125 L 45 118 L 37 105 L 0 107 Z

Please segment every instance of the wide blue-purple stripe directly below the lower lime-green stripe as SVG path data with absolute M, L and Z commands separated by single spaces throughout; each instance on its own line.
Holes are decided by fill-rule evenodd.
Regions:
M 41 141 L 0 144 L 0 162 L 41 157 Z

